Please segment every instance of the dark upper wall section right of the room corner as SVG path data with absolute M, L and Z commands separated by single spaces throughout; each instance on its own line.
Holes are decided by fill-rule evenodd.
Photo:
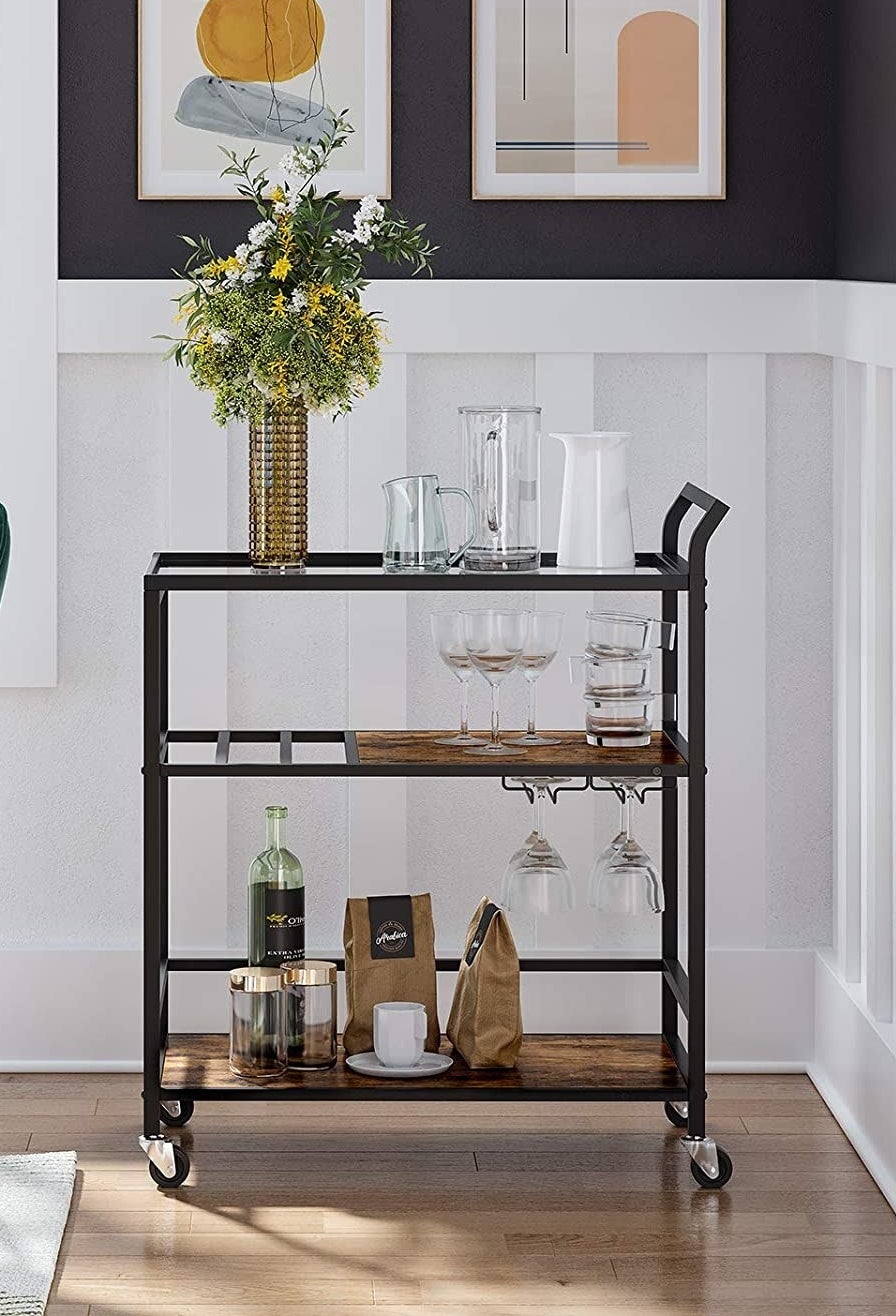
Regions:
M 841 0 L 837 275 L 896 280 L 896 3 Z

